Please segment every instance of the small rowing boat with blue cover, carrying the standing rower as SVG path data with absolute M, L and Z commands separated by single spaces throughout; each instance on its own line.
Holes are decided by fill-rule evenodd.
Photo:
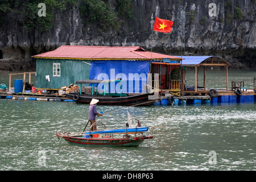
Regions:
M 139 146 L 142 142 L 144 142 L 144 140 L 153 138 L 153 135 L 151 135 L 151 133 L 148 131 L 148 127 L 141 127 L 139 121 L 138 126 L 135 127 L 129 127 L 129 121 L 127 121 L 126 127 L 121 129 L 106 129 L 106 126 L 103 123 L 97 124 L 103 126 L 104 130 L 89 130 L 82 131 L 80 133 L 57 133 L 56 131 L 56 137 L 59 139 L 63 138 L 68 143 L 80 144 L 83 146 L 97 145 L 127 147 Z M 94 125 L 96 125 L 96 123 L 93 123 L 90 129 L 93 128 Z

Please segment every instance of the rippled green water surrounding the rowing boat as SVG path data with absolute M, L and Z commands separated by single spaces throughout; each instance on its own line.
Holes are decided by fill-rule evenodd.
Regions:
M 251 84 L 254 75 L 234 78 Z M 97 106 L 104 113 L 121 108 Z M 84 129 L 88 110 L 74 102 L 1 99 L 0 170 L 256 169 L 255 102 L 130 107 L 130 114 L 154 134 L 139 147 L 81 147 L 57 139 L 57 129 Z M 108 129 L 124 127 L 126 120 L 127 109 L 97 118 Z M 210 152 L 216 154 L 214 160 Z

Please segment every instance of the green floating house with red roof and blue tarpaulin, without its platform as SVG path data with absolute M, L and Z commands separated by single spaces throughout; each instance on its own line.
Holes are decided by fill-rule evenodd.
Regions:
M 137 46 L 61 46 L 32 56 L 36 59 L 36 87 L 59 89 L 77 80 L 122 80 L 123 93 L 143 93 L 145 85 L 180 94 L 180 57 L 148 52 Z M 159 81 L 159 86 L 154 85 Z M 106 92 L 115 93 L 112 85 Z

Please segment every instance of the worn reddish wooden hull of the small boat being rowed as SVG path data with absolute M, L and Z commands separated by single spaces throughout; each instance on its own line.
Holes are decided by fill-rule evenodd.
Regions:
M 84 137 L 69 137 L 56 135 L 62 137 L 64 140 L 71 144 L 79 144 L 83 146 L 124 146 L 124 147 L 137 147 L 145 139 L 152 139 L 153 136 L 140 136 L 133 138 L 84 138 Z

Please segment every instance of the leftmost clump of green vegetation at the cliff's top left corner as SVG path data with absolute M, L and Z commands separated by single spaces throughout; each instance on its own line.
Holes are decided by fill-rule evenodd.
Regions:
M 5 23 L 8 18 L 19 20 L 22 27 L 27 30 L 40 28 L 42 31 L 52 27 L 52 20 L 56 11 L 65 10 L 67 6 L 75 5 L 75 0 L 45 0 L 46 16 L 38 15 L 38 5 L 41 0 L 0 0 L 0 24 Z M 7 14 L 9 12 L 9 14 Z M 7 16 L 10 17 L 7 17 Z

